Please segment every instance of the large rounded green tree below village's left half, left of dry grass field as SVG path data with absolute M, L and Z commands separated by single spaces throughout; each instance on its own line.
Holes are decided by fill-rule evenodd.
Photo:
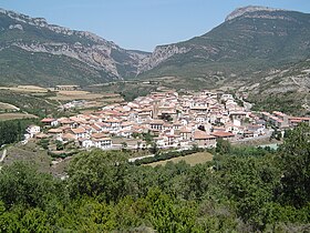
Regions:
M 70 163 L 69 188 L 72 196 L 86 194 L 110 202 L 126 193 L 127 159 L 120 151 L 82 152 Z

